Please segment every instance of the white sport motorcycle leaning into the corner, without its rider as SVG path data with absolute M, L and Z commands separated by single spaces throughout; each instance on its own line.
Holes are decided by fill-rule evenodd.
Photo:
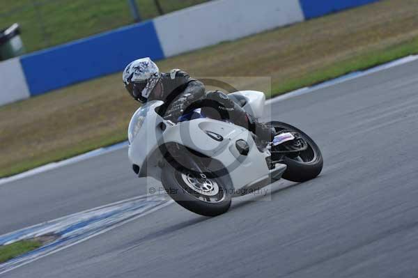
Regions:
M 265 95 L 238 91 L 229 96 L 254 118 L 263 116 Z M 226 213 L 233 197 L 242 196 L 280 178 L 304 182 L 323 167 L 320 149 L 293 125 L 272 121 L 272 142 L 261 142 L 249 130 L 229 121 L 208 118 L 202 109 L 164 118 L 164 102 L 137 109 L 128 128 L 128 156 L 139 177 L 160 180 L 171 198 L 199 215 Z

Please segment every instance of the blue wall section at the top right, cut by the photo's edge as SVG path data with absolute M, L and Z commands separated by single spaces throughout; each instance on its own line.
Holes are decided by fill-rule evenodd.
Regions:
M 299 0 L 306 20 L 379 0 Z

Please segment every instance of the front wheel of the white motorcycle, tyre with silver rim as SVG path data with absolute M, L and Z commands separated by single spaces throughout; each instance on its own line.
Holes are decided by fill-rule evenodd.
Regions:
M 231 206 L 231 194 L 229 194 L 222 180 L 215 176 L 207 177 L 209 181 L 207 186 L 203 185 L 203 187 L 209 188 L 209 190 L 205 192 L 200 190 L 199 193 L 199 190 L 192 183 L 193 179 L 197 180 L 200 177 L 196 179 L 194 176 L 190 176 L 192 174 L 188 173 L 187 169 L 175 169 L 167 164 L 162 169 L 162 185 L 176 203 L 193 213 L 209 217 L 226 213 Z M 212 187 L 212 191 L 210 187 Z M 218 190 L 218 194 L 215 194 L 215 190 Z M 214 195 L 209 196 L 208 194 Z M 209 201 L 210 199 L 212 201 Z

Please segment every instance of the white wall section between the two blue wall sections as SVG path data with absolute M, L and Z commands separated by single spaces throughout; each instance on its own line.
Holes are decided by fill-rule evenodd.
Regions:
M 303 20 L 298 0 L 217 0 L 157 17 L 154 24 L 167 57 Z

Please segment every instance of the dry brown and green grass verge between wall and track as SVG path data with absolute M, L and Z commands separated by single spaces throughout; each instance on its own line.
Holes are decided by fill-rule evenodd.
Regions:
M 385 0 L 158 61 L 268 97 L 418 53 L 418 1 Z M 0 107 L 0 176 L 126 139 L 137 109 L 121 73 Z

